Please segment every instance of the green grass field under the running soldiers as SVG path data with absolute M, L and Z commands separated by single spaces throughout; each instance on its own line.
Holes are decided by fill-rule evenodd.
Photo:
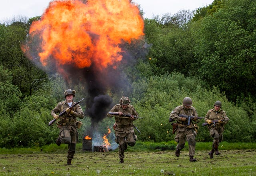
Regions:
M 142 144 L 139 143 L 138 146 Z M 145 146 L 148 145 L 148 143 L 145 144 Z M 152 143 L 152 145 L 156 144 Z M 204 145 L 207 146 L 208 143 L 198 145 L 200 148 Z M 51 145 L 43 148 L 42 151 L 41 149 L 8 150 L 10 153 L 1 149 L 0 152 L 4 154 L 0 154 L 0 175 L 255 176 L 256 150 L 249 149 L 254 148 L 252 147 L 254 144 L 244 145 L 248 149 L 221 149 L 221 154 L 214 155 L 213 159 L 208 156 L 209 150 L 196 150 L 194 158 L 197 159 L 197 162 L 189 162 L 187 148 L 181 151 L 180 157 L 176 157 L 175 150 L 136 151 L 136 147 L 128 147 L 128 150 L 125 151 L 124 163 L 120 164 L 117 150 L 106 153 L 82 152 L 81 145 L 78 144 L 72 165 L 66 165 L 66 145 L 61 145 L 59 148 L 56 148 L 56 145 Z M 48 151 L 49 149 L 52 151 Z M 53 151 L 54 149 L 55 151 Z

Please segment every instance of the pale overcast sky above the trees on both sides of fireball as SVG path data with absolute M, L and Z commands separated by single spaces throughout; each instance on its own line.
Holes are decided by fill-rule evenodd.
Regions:
M 11 20 L 14 17 L 41 16 L 52 0 L 1 0 L 0 22 Z M 175 14 L 179 10 L 196 10 L 199 7 L 212 4 L 214 0 L 133 0 L 140 4 L 144 18 L 166 13 Z

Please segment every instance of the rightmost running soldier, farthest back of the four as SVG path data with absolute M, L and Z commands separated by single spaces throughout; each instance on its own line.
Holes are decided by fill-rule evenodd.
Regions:
M 213 158 L 214 151 L 216 155 L 220 154 L 218 146 L 223 140 L 224 125 L 228 123 L 228 120 L 229 118 L 227 117 L 226 112 L 221 108 L 220 101 L 216 101 L 214 103 L 214 108 L 208 110 L 204 117 L 204 121 L 208 123 L 210 136 L 213 137 L 212 151 L 208 153 L 210 158 Z M 213 121 L 217 121 L 217 123 Z

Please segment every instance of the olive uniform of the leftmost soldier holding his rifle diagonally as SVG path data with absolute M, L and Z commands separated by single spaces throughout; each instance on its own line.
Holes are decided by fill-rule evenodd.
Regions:
M 73 101 L 72 105 L 75 103 L 76 102 Z M 51 114 L 54 116 L 56 113 L 65 111 L 67 108 L 70 108 L 70 106 L 65 100 L 64 102 L 58 103 L 58 105 L 51 111 Z M 69 114 L 66 117 L 66 113 L 63 116 L 60 116 L 58 121 L 58 127 L 60 129 L 59 137 L 61 143 L 68 144 L 68 159 L 74 158 L 74 154 L 76 152 L 76 143 L 78 141 L 76 118 L 84 118 L 84 112 L 79 104 L 77 104 L 72 110 L 74 111 L 73 114 Z

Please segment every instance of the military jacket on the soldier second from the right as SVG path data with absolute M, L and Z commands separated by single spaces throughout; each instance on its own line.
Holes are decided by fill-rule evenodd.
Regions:
M 188 119 L 185 122 L 181 121 L 181 117 L 178 115 L 189 115 L 189 116 L 198 116 L 196 112 L 196 108 L 191 106 L 189 109 L 186 109 L 184 105 L 177 106 L 172 112 L 170 113 L 170 118 L 176 120 L 180 124 L 188 124 Z M 192 120 L 190 121 L 192 122 Z

